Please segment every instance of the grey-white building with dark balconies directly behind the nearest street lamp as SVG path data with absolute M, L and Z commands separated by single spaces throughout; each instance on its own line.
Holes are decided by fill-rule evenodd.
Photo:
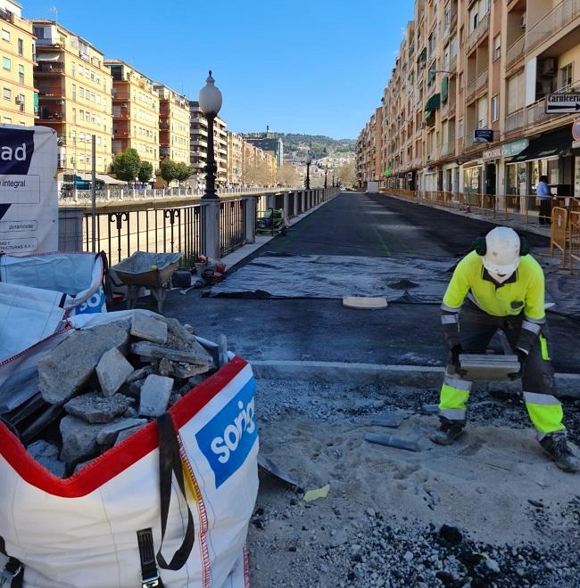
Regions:
M 219 184 L 228 182 L 228 125 L 220 117 L 213 120 L 213 151 L 218 171 Z M 207 118 L 199 107 L 199 102 L 189 101 L 189 155 L 192 167 L 192 181 L 203 186 L 207 162 Z

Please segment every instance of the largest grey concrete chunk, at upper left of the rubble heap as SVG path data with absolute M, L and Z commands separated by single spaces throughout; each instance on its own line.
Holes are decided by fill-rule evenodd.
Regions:
M 50 404 L 64 404 L 95 372 L 105 351 L 128 342 L 128 323 L 117 321 L 74 331 L 38 362 L 38 388 Z

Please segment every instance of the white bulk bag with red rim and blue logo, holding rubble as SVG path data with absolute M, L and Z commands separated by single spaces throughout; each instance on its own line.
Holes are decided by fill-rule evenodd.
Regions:
M 168 563 L 176 554 L 177 569 L 162 569 L 159 555 L 153 559 L 160 586 L 249 585 L 244 543 L 258 492 L 254 391 L 250 365 L 234 356 L 174 404 L 161 427 L 156 421 L 139 429 L 67 479 L 39 465 L 0 423 L 0 535 L 6 553 L 23 565 L 23 585 L 142 586 L 137 532 L 147 529 L 155 553 L 162 545 Z M 171 422 L 177 434 L 172 450 Z M 163 452 L 160 430 L 166 431 Z M 168 451 L 174 475 L 171 482 L 162 477 L 170 495 L 162 542 L 161 504 L 167 500 L 160 453 L 167 464 Z M 186 501 L 176 471 L 183 471 Z M 191 551 L 184 543 L 188 510 L 195 529 Z

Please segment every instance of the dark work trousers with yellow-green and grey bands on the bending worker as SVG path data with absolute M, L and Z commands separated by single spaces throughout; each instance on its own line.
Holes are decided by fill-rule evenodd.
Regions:
M 467 354 L 483 354 L 495 331 L 501 329 L 515 353 L 522 321 L 522 315 L 492 316 L 468 301 L 460 310 L 461 347 Z M 540 336 L 526 358 L 522 373 L 524 402 L 539 439 L 549 433 L 566 430 L 562 424 L 562 406 L 555 396 L 556 383 L 546 331 L 543 325 Z M 470 390 L 471 382 L 455 372 L 450 354 L 439 404 L 439 418 L 443 423 L 465 424 Z

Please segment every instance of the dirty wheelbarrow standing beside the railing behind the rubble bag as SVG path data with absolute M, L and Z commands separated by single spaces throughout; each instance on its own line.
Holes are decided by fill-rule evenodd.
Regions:
M 127 307 L 135 308 L 141 288 L 151 290 L 157 300 L 157 312 L 162 314 L 163 302 L 167 296 L 171 276 L 178 268 L 181 253 L 147 253 L 136 251 L 123 259 L 119 264 L 112 265 L 111 270 L 116 277 L 115 284 L 127 286 Z

